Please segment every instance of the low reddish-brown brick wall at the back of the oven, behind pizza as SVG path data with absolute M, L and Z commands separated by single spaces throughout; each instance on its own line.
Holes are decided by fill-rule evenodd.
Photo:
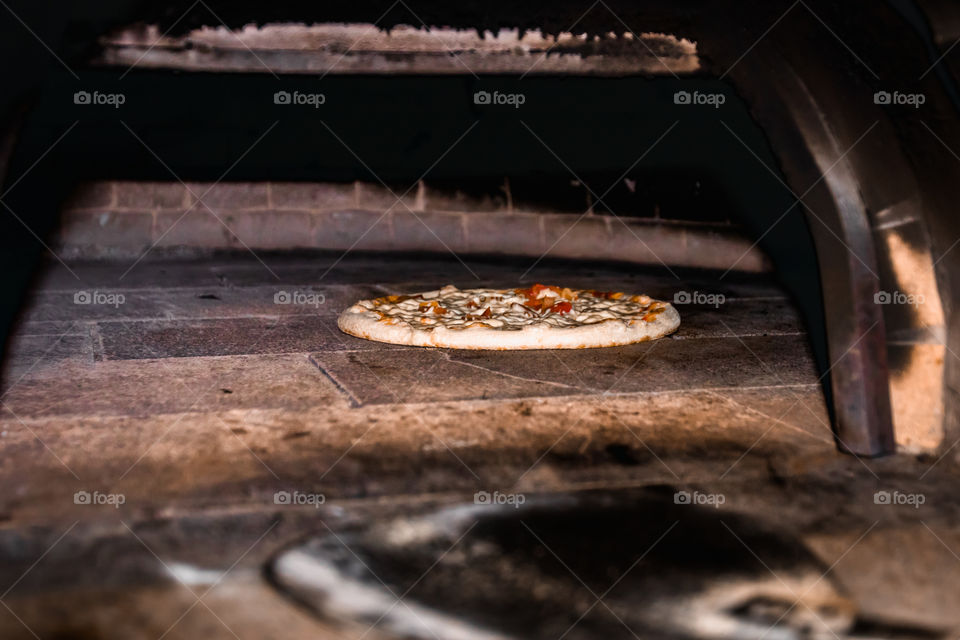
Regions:
M 549 251 L 552 257 L 769 269 L 768 259 L 726 220 L 664 217 L 658 208 L 652 215 L 613 216 L 589 210 L 589 203 L 557 212 L 515 201 L 506 184 L 491 197 L 421 182 L 397 201 L 386 187 L 365 182 L 90 182 L 64 204 L 54 244 L 72 258 L 136 257 L 150 247 L 537 257 Z

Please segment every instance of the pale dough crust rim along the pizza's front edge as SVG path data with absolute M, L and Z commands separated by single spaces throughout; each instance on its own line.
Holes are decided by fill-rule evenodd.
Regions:
M 680 326 L 680 314 L 669 303 L 650 322 L 636 319 L 631 323 L 606 320 L 577 327 L 549 325 L 526 326 L 521 329 L 468 327 L 448 329 L 443 325 L 431 330 L 414 329 L 407 323 L 382 322 L 373 313 L 357 313 L 347 309 L 337 320 L 344 333 L 377 342 L 414 347 L 447 347 L 451 349 L 524 350 L 524 349 L 589 349 L 615 347 L 654 340 L 669 335 Z

